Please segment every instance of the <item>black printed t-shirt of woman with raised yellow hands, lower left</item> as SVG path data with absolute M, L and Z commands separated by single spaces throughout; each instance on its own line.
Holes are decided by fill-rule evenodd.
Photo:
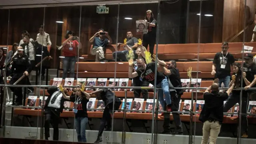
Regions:
M 72 95 L 70 96 L 70 101 L 76 104 L 76 117 L 88 117 L 86 105 L 89 100 L 85 98 L 84 94 L 82 94 L 82 98 Z

